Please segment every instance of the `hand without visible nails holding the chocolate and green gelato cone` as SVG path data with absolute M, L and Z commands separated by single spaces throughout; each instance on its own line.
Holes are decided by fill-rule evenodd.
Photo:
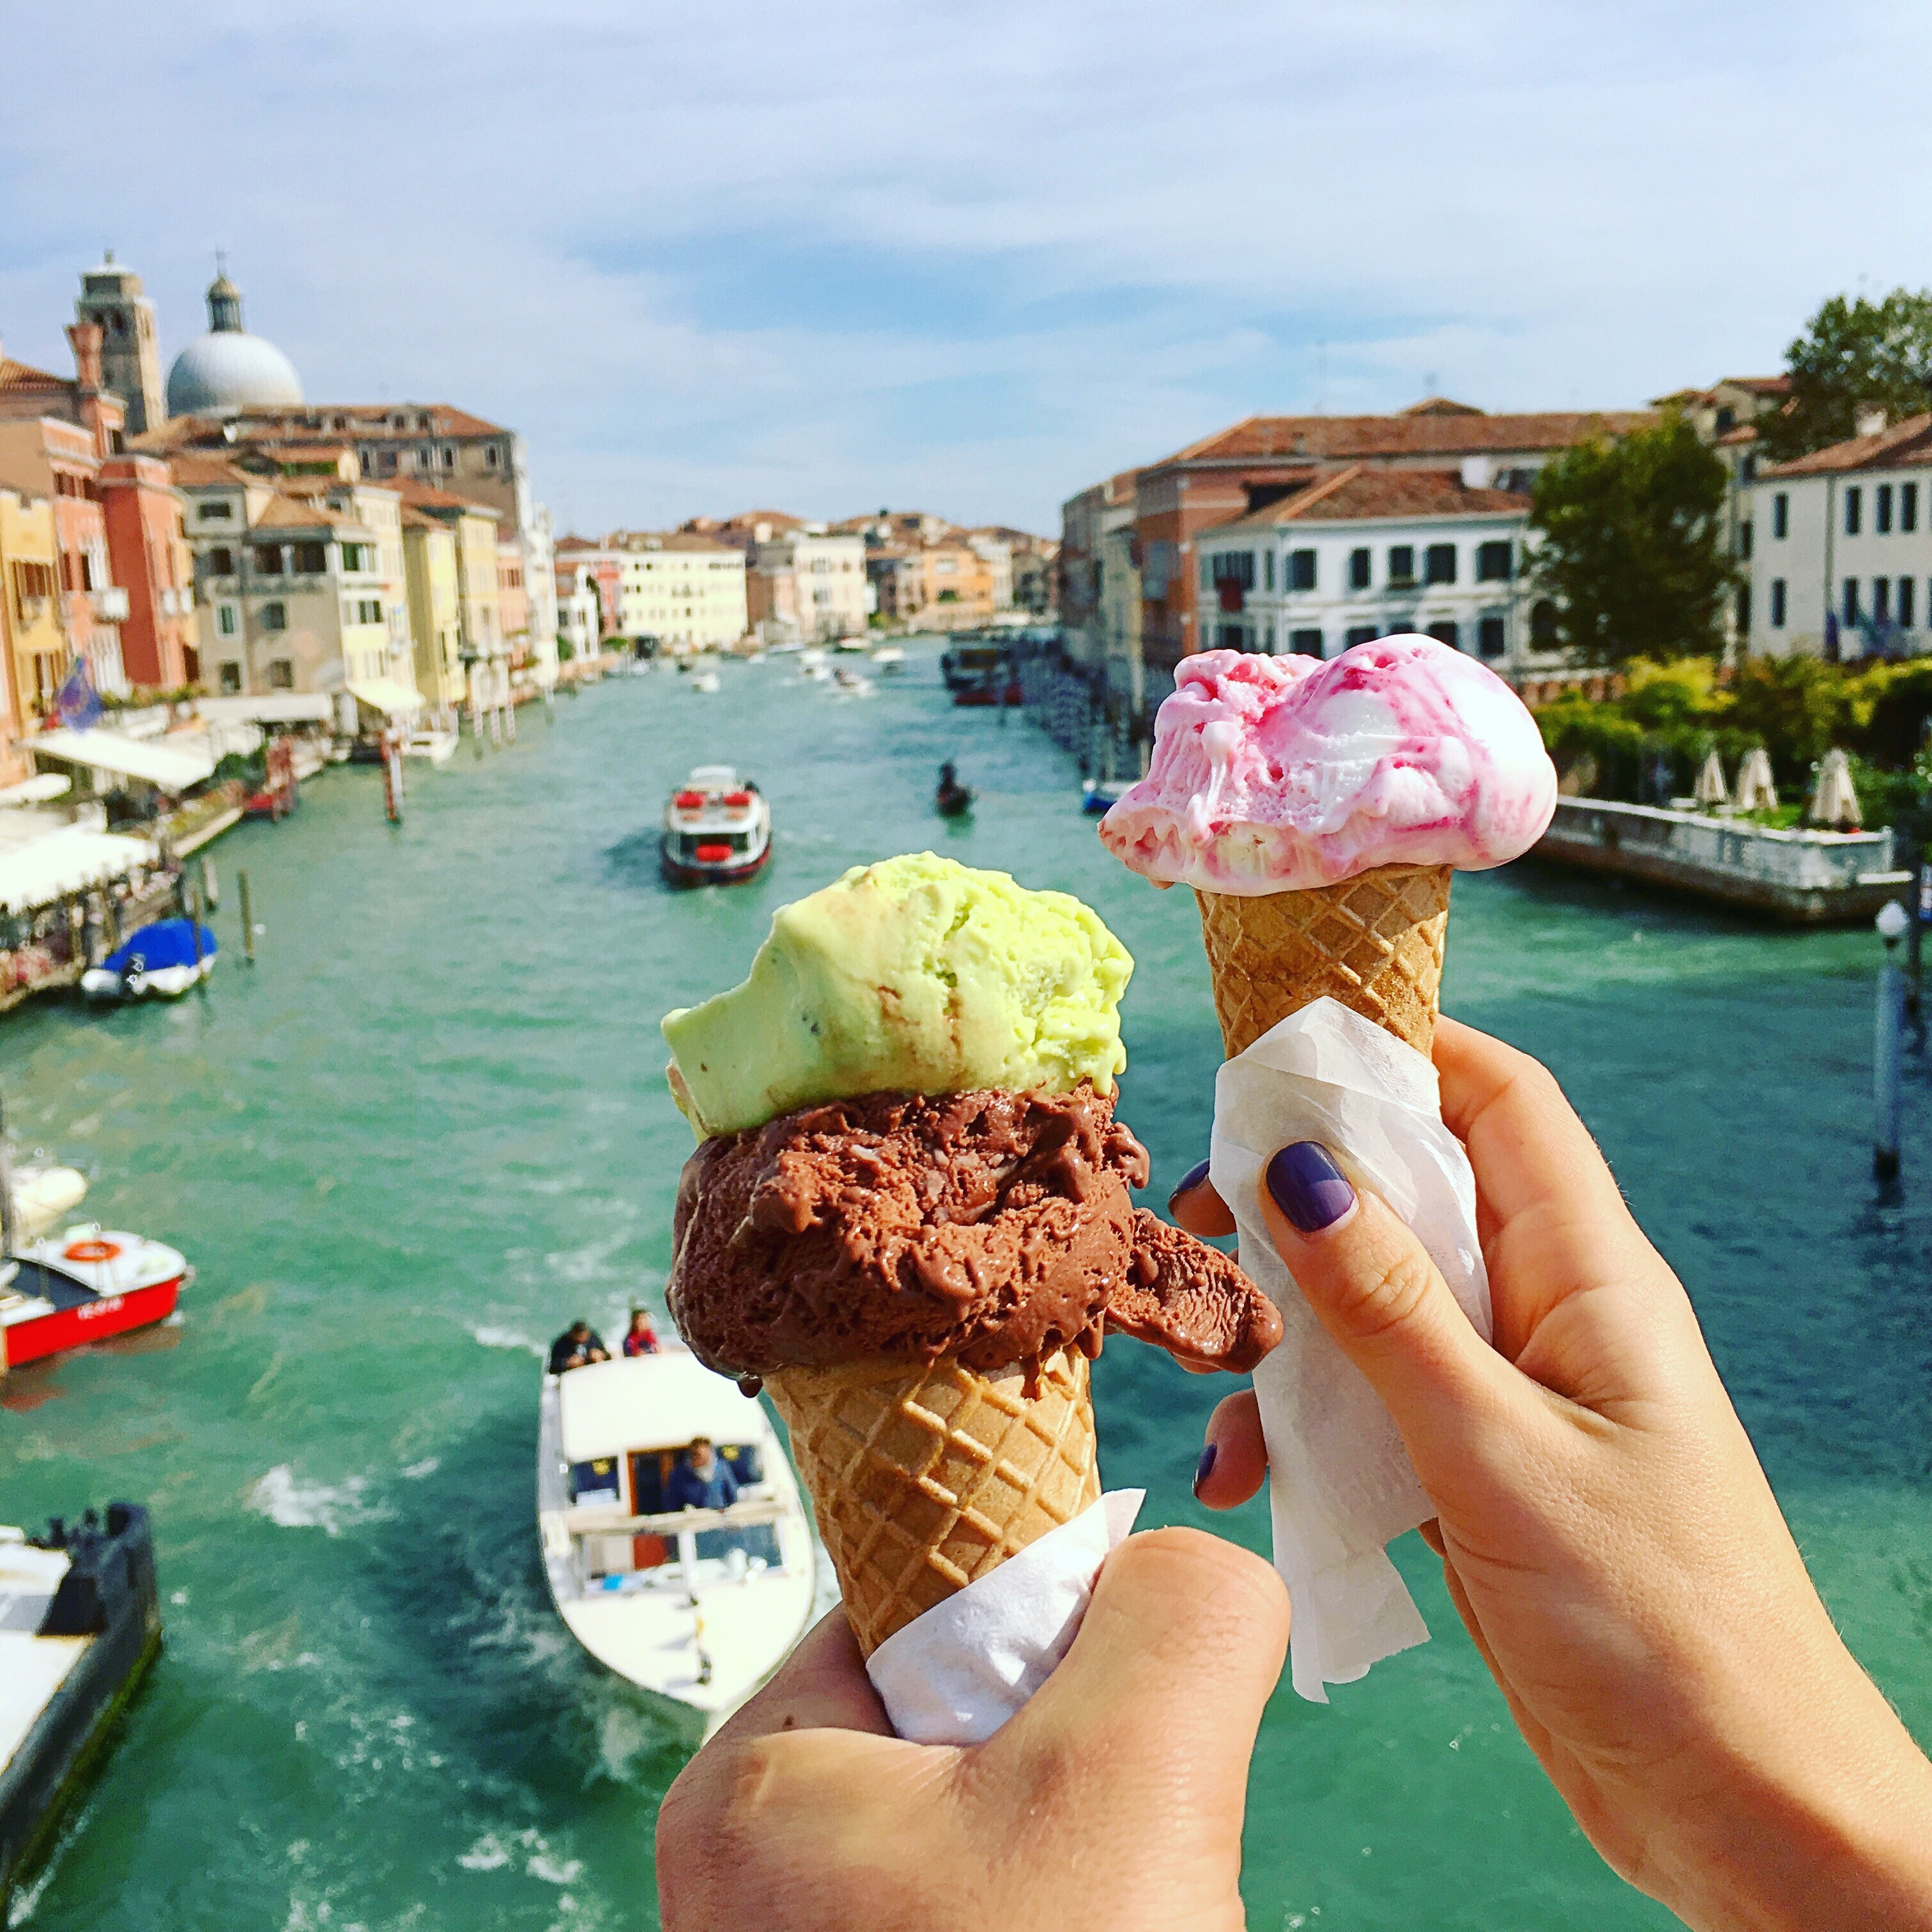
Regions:
M 1240 1932 L 1248 1756 L 1287 1640 L 1260 1557 L 1130 1536 L 1026 1708 L 952 1748 L 893 1735 L 833 1611 L 665 1793 L 665 1932 Z

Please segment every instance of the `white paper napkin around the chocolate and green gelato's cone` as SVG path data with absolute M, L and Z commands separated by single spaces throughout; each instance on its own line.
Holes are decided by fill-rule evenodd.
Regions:
M 866 1663 L 893 1729 L 914 1745 L 983 1745 L 1066 1656 L 1146 1493 L 1113 1490 L 895 1631 Z

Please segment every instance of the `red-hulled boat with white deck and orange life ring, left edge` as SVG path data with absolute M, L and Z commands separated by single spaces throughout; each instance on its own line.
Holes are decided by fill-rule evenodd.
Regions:
M 174 1248 L 99 1223 L 25 1242 L 0 1260 L 0 1374 L 166 1321 L 193 1279 Z

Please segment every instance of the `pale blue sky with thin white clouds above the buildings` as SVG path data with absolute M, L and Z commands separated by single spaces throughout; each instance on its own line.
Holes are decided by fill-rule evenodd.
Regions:
M 1928 60 L 1868 0 L 0 0 L 0 346 L 71 369 L 112 247 L 166 365 L 226 249 L 311 402 L 512 425 L 558 527 L 1057 531 L 1252 413 L 1779 367 L 1932 280 Z

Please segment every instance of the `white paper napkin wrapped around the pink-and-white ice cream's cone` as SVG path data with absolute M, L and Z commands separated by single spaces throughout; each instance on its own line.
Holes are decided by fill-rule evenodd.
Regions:
M 1289 1586 L 1294 1689 L 1354 1683 L 1428 1642 L 1387 1544 L 1434 1509 L 1395 1418 L 1329 1339 L 1267 1238 L 1256 1194 L 1277 1150 L 1320 1140 L 1420 1236 L 1463 1312 L 1490 1339 L 1490 1275 L 1476 1242 L 1476 1180 L 1441 1122 L 1435 1068 L 1414 1047 L 1318 999 L 1215 1076 L 1209 1171 L 1240 1227 L 1240 1265 L 1281 1310 L 1254 1372 L 1267 1437 L 1275 1569 Z

